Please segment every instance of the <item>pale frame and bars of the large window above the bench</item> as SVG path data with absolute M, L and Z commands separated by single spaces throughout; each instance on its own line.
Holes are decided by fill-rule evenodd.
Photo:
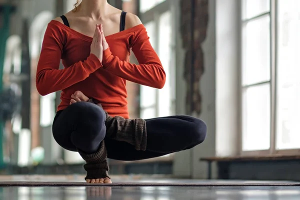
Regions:
M 243 2 L 239 1 L 239 7 L 240 7 L 240 28 L 239 28 L 239 35 L 240 35 L 240 60 L 239 60 L 239 65 L 240 65 L 240 78 L 239 78 L 239 154 L 241 156 L 259 156 L 259 155 L 286 155 L 286 154 L 300 154 L 300 148 L 295 148 L 295 149 L 276 149 L 276 116 L 277 116 L 277 110 L 276 110 L 276 92 L 277 92 L 277 84 L 276 84 L 276 78 L 277 78 L 277 7 L 278 7 L 278 0 L 270 0 L 270 10 L 268 12 L 263 12 L 261 14 L 255 15 L 253 17 L 243 19 Z M 243 38 L 242 38 L 242 31 L 243 31 L 243 25 L 244 23 L 255 20 L 261 16 L 265 15 L 270 16 L 270 80 L 269 81 L 263 81 L 259 83 L 254 83 L 254 84 L 249 84 L 249 85 L 243 85 L 242 84 L 242 76 L 243 76 L 243 58 L 242 58 L 242 43 L 243 43 Z M 243 89 L 246 87 L 251 87 L 255 85 L 260 85 L 264 84 L 266 82 L 269 82 L 270 85 L 270 148 L 267 150 L 249 150 L 249 151 L 244 151 L 242 149 L 242 115 L 243 115 Z

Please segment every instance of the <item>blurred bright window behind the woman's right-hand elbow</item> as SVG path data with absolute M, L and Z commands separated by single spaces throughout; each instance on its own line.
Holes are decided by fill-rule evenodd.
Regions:
M 163 3 L 160 3 L 162 2 Z M 140 1 L 141 4 L 143 0 Z M 145 3 L 146 1 L 144 1 Z M 147 1 L 150 2 L 150 1 Z M 156 6 L 153 7 L 153 2 Z M 157 52 L 166 73 L 166 82 L 162 89 L 140 86 L 140 117 L 153 118 L 174 114 L 175 83 L 174 73 L 174 35 L 172 33 L 172 12 L 168 0 L 156 0 L 146 4 L 143 9 L 151 9 L 151 13 L 141 14 L 151 45 Z M 160 3 L 160 4 L 157 4 Z

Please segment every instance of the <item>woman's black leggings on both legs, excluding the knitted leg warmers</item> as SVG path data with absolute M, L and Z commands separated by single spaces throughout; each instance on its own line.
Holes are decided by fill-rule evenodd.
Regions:
M 129 143 L 105 138 L 105 118 L 104 110 L 93 103 L 73 103 L 56 113 L 52 126 L 54 139 L 67 150 L 80 149 L 86 153 L 95 152 L 104 139 L 108 158 L 138 160 L 192 148 L 206 136 L 206 124 L 195 117 L 145 119 L 147 148 L 141 151 Z

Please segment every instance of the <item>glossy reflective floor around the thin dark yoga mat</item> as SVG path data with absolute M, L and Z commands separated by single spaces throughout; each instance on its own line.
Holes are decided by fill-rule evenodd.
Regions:
M 33 178 L 34 177 L 34 178 Z M 28 181 L 36 180 L 37 176 L 14 176 L 13 178 L 0 177 L 0 181 Z M 39 176 L 42 177 L 42 176 Z M 43 178 L 45 181 L 55 181 L 53 178 Z M 74 181 L 74 178 L 67 178 Z M 224 181 L 224 180 L 179 180 L 179 179 L 137 179 L 119 177 L 114 178 L 119 182 L 166 183 L 168 186 L 3 186 L 0 187 L 0 200 L 84 200 L 84 199 L 116 199 L 116 200 L 252 200 L 252 199 L 276 199 L 293 200 L 300 199 L 300 186 L 278 186 L 293 182 L 273 181 Z M 156 181 L 155 181 L 156 180 Z M 29 180 L 30 181 L 30 180 Z M 40 181 L 40 180 L 38 180 Z M 67 182 L 62 177 L 57 181 Z M 114 182 L 115 182 L 114 181 Z M 176 183 L 193 183 L 198 186 L 176 186 Z M 258 184 L 258 186 L 244 186 L 244 184 Z M 261 186 L 259 184 L 275 184 L 277 186 Z M 208 184 L 209 186 L 205 186 Z M 215 184 L 216 186 L 212 186 Z M 220 186 L 223 184 L 223 186 Z M 228 186 L 235 184 L 236 186 Z

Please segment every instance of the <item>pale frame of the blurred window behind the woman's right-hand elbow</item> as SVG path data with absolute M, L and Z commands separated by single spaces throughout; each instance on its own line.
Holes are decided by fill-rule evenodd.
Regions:
M 154 22 L 154 29 L 155 29 L 155 41 L 153 44 L 153 47 L 156 51 L 157 54 L 159 54 L 159 49 L 158 49 L 158 43 L 159 43 L 159 18 L 160 16 L 167 12 L 170 11 L 171 14 L 171 58 L 175 57 L 175 51 L 176 51 L 176 46 L 175 46 L 175 17 L 173 17 L 175 15 L 175 5 L 174 5 L 174 1 L 172 0 L 165 0 L 161 3 L 156 4 L 155 6 L 153 6 L 152 8 L 146 10 L 145 12 L 140 12 L 139 8 L 138 8 L 138 15 L 139 18 L 141 19 L 143 24 L 149 23 L 151 21 Z M 171 59 L 173 60 L 173 59 Z M 170 81 L 171 81 L 171 85 L 175 86 L 175 70 L 176 70 L 176 62 L 175 61 L 171 61 L 170 65 L 171 70 L 170 70 Z M 140 89 L 141 91 L 141 86 Z M 139 95 L 141 95 L 141 92 L 139 92 Z M 158 117 L 158 109 L 159 109 L 159 90 L 156 89 L 155 90 L 155 103 L 153 105 L 150 106 L 141 106 L 141 104 L 139 103 L 139 113 L 141 114 L 141 112 L 145 109 L 148 108 L 154 108 L 154 113 L 155 116 Z M 171 93 L 171 114 L 175 114 L 175 90 Z

